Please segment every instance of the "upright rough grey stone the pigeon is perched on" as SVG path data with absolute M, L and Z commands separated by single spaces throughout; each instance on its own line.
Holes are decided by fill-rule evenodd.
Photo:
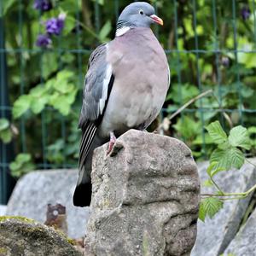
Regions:
M 189 255 L 200 183 L 189 148 L 130 130 L 110 155 L 97 148 L 86 255 Z

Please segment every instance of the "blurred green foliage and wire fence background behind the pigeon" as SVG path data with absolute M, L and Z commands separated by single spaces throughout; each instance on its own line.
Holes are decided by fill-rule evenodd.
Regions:
M 92 49 L 114 37 L 128 0 L 0 1 L 0 204 L 36 169 L 76 168 L 79 111 Z M 148 131 L 183 140 L 195 160 L 205 126 L 244 125 L 256 154 L 256 1 L 152 0 L 172 84 Z M 177 110 L 191 104 L 181 113 Z M 173 113 L 175 113 L 173 115 Z

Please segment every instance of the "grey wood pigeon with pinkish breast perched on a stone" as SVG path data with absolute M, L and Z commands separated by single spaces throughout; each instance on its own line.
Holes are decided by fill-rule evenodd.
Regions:
M 95 148 L 130 129 L 145 130 L 160 113 L 170 85 L 166 53 L 150 26 L 163 25 L 149 3 L 127 5 L 117 20 L 115 37 L 90 55 L 79 116 L 82 137 L 79 179 L 73 205 L 90 206 L 91 162 Z

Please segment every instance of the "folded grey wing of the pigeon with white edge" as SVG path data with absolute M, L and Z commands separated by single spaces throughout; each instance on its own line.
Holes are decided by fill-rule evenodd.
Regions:
M 112 67 L 106 61 L 107 49 L 108 44 L 101 44 L 92 52 L 84 79 L 83 105 L 79 118 L 79 128 L 82 129 L 79 170 L 84 166 L 113 85 Z

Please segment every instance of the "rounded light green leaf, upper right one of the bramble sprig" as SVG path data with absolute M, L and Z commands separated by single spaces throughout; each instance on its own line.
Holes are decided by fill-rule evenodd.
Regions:
M 247 129 L 241 125 L 238 125 L 231 129 L 229 142 L 234 147 L 245 148 L 247 150 L 251 148 L 250 138 Z

